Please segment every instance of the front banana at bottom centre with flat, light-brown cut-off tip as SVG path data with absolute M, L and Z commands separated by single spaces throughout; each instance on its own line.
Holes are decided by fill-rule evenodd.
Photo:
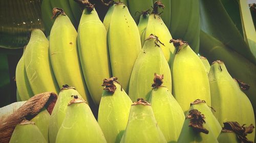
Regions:
M 120 143 L 167 142 L 154 116 L 151 104 L 139 98 L 132 104 L 129 120 Z

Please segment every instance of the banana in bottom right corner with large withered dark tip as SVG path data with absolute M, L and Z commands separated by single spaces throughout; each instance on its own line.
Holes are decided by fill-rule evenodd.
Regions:
M 253 142 L 246 137 L 246 135 L 252 133 L 253 128 L 254 126 L 252 124 L 248 127 L 244 127 L 244 125 L 239 125 L 238 122 L 225 122 L 221 134 L 218 137 L 218 141 L 220 143 Z

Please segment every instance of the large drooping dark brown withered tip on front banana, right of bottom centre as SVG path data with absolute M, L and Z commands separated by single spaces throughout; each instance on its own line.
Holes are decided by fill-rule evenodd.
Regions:
M 186 116 L 186 118 L 190 119 L 188 126 L 192 127 L 194 131 L 202 132 L 205 134 L 209 133 L 209 131 L 203 127 L 203 124 L 205 123 L 204 121 L 205 117 L 197 109 L 189 110 L 189 114 Z

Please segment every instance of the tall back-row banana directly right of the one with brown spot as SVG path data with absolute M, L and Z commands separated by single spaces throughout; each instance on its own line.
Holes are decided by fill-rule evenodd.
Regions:
M 99 105 L 102 79 L 110 78 L 111 67 L 105 27 L 93 5 L 87 6 L 79 23 L 77 43 L 84 79 L 94 103 Z

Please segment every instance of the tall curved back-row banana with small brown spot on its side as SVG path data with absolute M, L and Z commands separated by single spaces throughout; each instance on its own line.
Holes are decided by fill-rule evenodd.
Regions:
M 63 84 L 72 85 L 89 102 L 90 95 L 82 75 L 76 45 L 77 32 L 62 9 L 55 8 L 54 13 L 56 19 L 51 30 L 49 54 L 59 88 Z

